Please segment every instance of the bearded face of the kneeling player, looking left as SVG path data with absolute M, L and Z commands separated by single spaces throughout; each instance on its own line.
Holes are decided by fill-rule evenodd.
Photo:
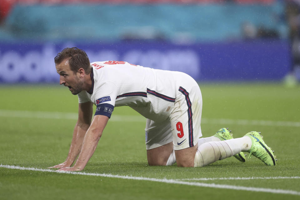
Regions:
M 63 60 L 55 66 L 60 75 L 59 84 L 67 86 L 72 94 L 76 95 L 83 89 L 83 81 L 79 78 L 79 73 L 74 74 L 69 65 L 69 59 Z

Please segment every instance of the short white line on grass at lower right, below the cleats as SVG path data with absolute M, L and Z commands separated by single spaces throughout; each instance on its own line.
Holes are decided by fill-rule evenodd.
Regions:
M 228 178 L 183 178 L 178 181 L 214 181 L 214 180 L 252 180 L 252 179 L 300 179 L 300 176 L 292 177 L 228 177 Z

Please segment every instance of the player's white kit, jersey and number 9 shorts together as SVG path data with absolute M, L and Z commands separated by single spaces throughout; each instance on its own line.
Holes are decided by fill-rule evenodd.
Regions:
M 202 136 L 202 95 L 196 81 L 182 72 L 165 71 L 123 61 L 91 63 L 92 89 L 78 94 L 92 102 L 95 115 L 109 118 L 116 106 L 129 106 L 147 118 L 146 148 L 173 141 L 174 149 L 192 147 Z

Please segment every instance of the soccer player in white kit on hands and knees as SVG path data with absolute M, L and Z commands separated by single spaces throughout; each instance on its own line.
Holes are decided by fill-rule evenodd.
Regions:
M 147 118 L 149 165 L 177 162 L 181 167 L 202 167 L 231 156 L 244 162 L 242 152 L 251 153 L 267 165 L 276 165 L 260 133 L 233 139 L 222 128 L 214 136 L 200 138 L 202 95 L 196 81 L 185 73 L 123 61 L 90 63 L 87 54 L 76 47 L 63 49 L 54 61 L 60 84 L 78 95 L 79 108 L 68 157 L 52 168 L 83 170 L 116 106 L 130 106 Z M 92 120 L 93 104 L 97 108 Z

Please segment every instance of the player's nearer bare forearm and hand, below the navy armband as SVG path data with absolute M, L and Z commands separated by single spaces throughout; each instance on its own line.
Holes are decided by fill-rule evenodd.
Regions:
M 61 168 L 59 171 L 80 171 L 83 170 L 89 159 L 92 157 L 102 136 L 108 117 L 104 115 L 95 115 L 90 128 L 83 139 L 83 145 L 79 153 L 78 159 L 72 168 Z

